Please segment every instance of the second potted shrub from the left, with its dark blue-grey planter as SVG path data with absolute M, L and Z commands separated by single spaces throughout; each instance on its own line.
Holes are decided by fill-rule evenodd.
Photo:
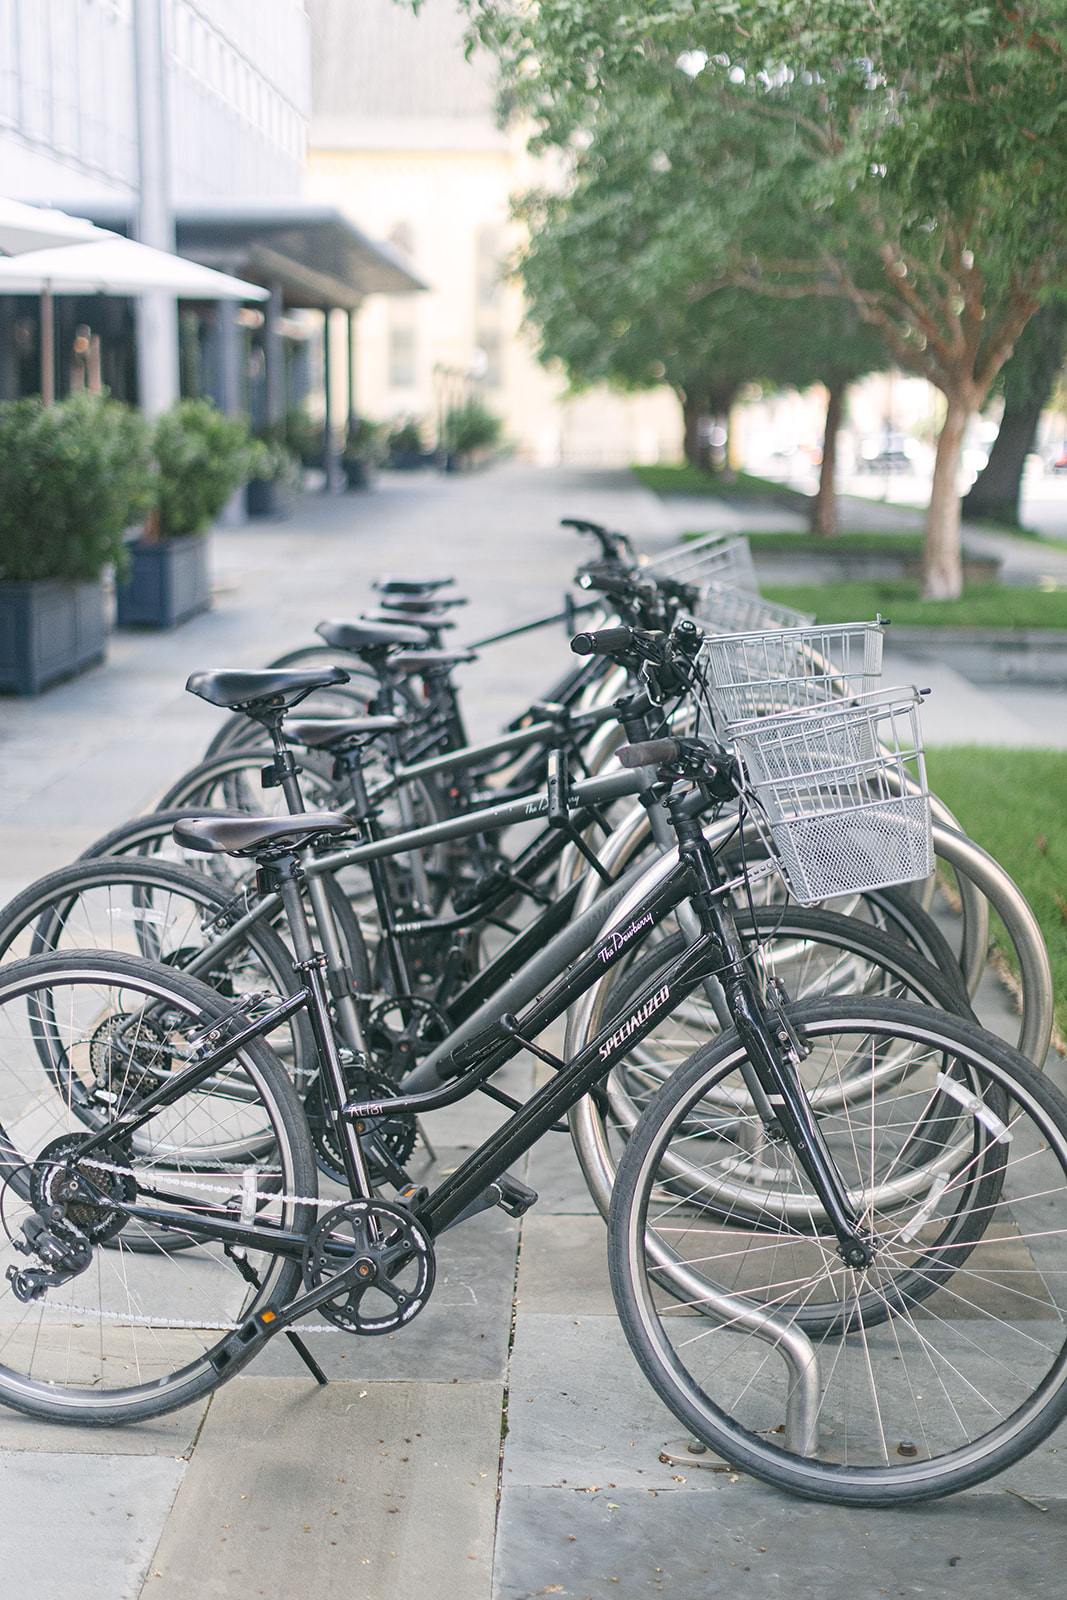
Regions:
M 117 586 L 120 627 L 176 627 L 211 602 L 206 528 L 248 477 L 254 440 L 210 400 L 179 400 L 155 422 L 155 509 Z

